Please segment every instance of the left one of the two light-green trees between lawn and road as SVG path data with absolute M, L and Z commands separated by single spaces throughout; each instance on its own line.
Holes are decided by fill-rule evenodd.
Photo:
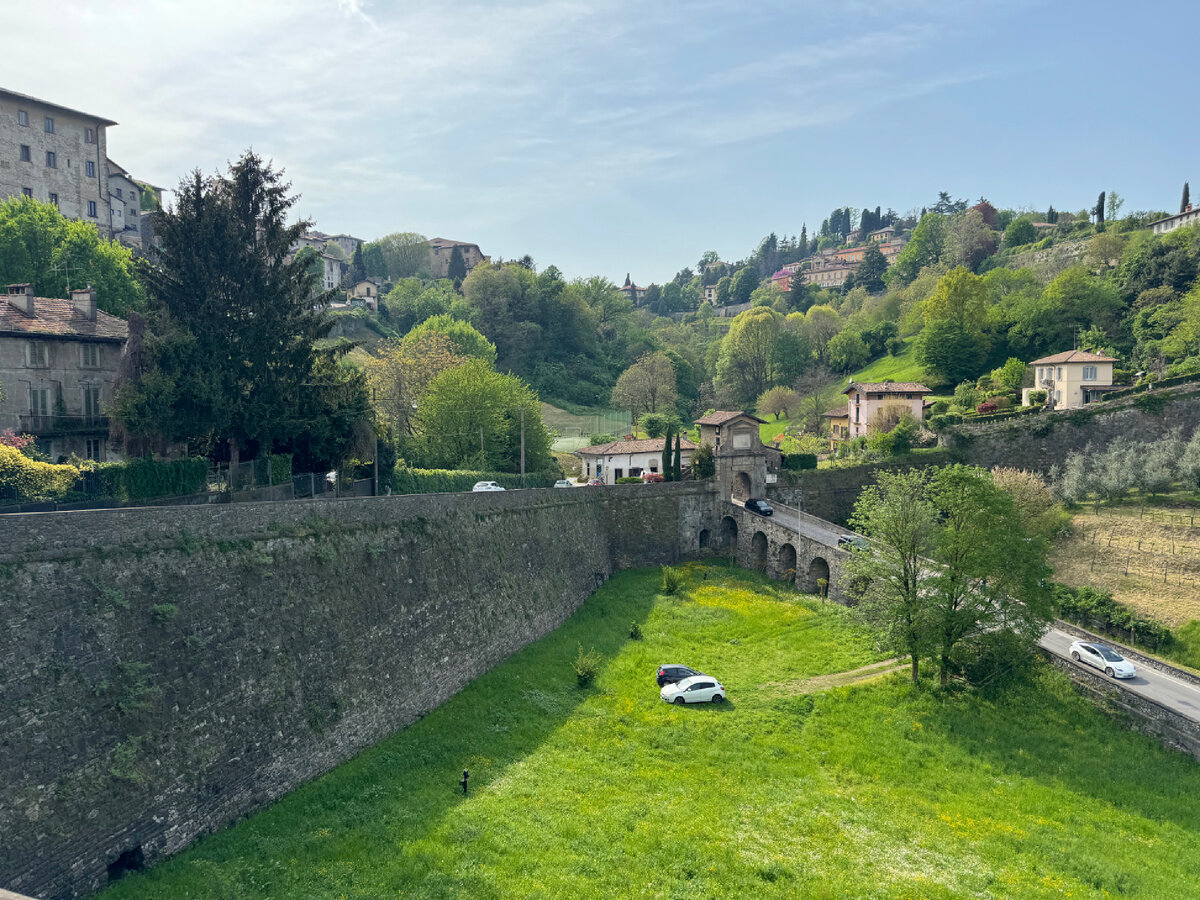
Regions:
M 857 588 L 858 613 L 880 632 L 887 649 L 908 656 L 913 684 L 930 644 L 922 581 L 937 511 L 928 488 L 924 470 L 881 473 L 878 482 L 859 496 L 850 520 L 871 539 L 871 548 L 852 553 L 845 570 Z

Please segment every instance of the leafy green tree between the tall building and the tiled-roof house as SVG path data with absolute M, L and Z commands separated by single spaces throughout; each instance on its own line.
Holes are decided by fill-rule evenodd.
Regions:
M 107 215 L 107 214 L 106 214 Z M 125 318 L 146 308 L 133 256 L 96 228 L 28 197 L 0 202 L 0 284 L 32 284 L 37 296 L 67 298 L 67 284 L 96 289 L 96 305 Z

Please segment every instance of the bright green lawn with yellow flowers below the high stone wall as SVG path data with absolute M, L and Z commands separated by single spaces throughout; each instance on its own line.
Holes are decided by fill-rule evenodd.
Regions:
M 998 702 L 847 685 L 880 656 L 845 611 L 685 572 L 676 596 L 614 576 L 424 720 L 106 900 L 1196 895 L 1200 766 L 1062 676 Z M 587 690 L 580 644 L 605 658 Z M 730 702 L 662 703 L 662 662 Z

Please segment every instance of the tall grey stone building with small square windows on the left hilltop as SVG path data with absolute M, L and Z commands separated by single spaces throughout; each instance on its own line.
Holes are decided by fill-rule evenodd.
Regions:
M 102 238 L 140 247 L 142 187 L 108 158 L 108 127 L 92 113 L 0 88 L 0 199 L 53 203 Z

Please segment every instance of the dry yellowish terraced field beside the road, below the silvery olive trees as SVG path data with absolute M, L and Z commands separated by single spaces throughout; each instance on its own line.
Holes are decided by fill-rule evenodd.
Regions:
M 1108 590 L 1172 628 L 1200 619 L 1200 508 L 1087 505 L 1073 528 L 1051 554 L 1057 581 Z

